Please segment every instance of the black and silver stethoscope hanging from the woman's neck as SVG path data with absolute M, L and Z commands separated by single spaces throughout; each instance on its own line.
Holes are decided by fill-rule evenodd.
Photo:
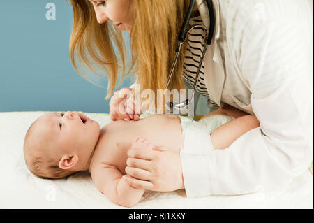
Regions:
M 184 101 L 181 101 L 179 103 L 173 103 L 173 102 L 170 102 L 170 101 L 165 101 L 165 106 L 169 109 L 169 110 L 173 110 L 174 108 L 179 110 L 181 108 L 186 108 L 188 105 L 190 105 L 190 103 L 193 101 L 194 99 L 194 94 L 195 94 L 195 90 L 196 90 L 196 85 L 197 85 L 197 81 L 198 81 L 198 78 L 199 78 L 199 75 L 200 75 L 200 69 L 202 67 L 202 63 L 204 61 L 204 56 L 206 55 L 206 52 L 207 52 L 207 48 L 209 47 L 209 45 L 211 45 L 211 39 L 213 38 L 214 36 L 214 29 L 215 29 L 215 15 L 214 15 L 214 8 L 213 8 L 213 3 L 211 0 L 206 0 L 206 3 L 207 3 L 207 7 L 208 7 L 208 10 L 209 10 L 209 18 L 210 18 L 210 23 L 209 23 L 209 31 L 207 31 L 207 28 L 202 26 L 202 25 L 195 25 L 193 26 L 192 28 L 190 28 L 188 31 L 186 31 L 186 27 L 188 27 L 188 22 L 190 20 L 190 16 L 192 15 L 192 12 L 193 12 L 193 8 L 195 6 L 195 0 L 191 0 L 190 1 L 190 6 L 188 7 L 188 13 L 186 14 L 186 17 L 184 18 L 184 22 L 182 24 L 182 27 L 181 27 L 181 31 L 179 33 L 179 36 L 178 36 L 178 41 L 179 41 L 179 45 L 177 45 L 177 48 L 176 48 L 176 57 L 174 59 L 174 62 L 172 64 L 172 69 L 170 71 L 170 75 L 169 75 L 169 78 L 167 80 L 167 85 L 166 85 L 166 90 L 168 89 L 169 87 L 169 84 L 170 84 L 170 80 L 172 78 L 172 74 L 173 74 L 173 71 L 174 71 L 174 67 L 176 66 L 177 64 L 177 59 L 179 57 L 179 54 L 181 52 L 181 47 L 184 43 L 184 41 L 186 40 L 186 36 L 188 34 L 190 34 L 190 31 L 192 31 L 193 29 L 195 28 L 199 28 L 199 27 L 202 27 L 202 29 L 204 29 L 205 31 L 208 32 L 208 34 L 206 34 L 205 36 L 205 42 L 206 42 L 206 46 L 204 48 L 204 51 L 202 52 L 202 57 L 201 57 L 201 60 L 200 60 L 200 65 L 198 66 L 198 69 L 197 69 L 197 74 L 196 74 L 196 77 L 195 77 L 195 82 L 194 82 L 194 85 L 193 85 L 193 94 L 192 96 L 190 97 L 190 99 L 186 99 Z

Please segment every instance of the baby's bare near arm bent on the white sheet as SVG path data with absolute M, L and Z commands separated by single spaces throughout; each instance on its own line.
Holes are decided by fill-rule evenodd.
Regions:
M 128 185 L 118 168 L 109 164 L 101 164 L 96 167 L 91 175 L 100 192 L 120 206 L 135 206 L 145 191 Z

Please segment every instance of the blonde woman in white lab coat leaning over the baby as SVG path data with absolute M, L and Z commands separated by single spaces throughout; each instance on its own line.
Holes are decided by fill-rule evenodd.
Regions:
M 109 76 L 110 96 L 120 65 L 111 41 L 121 55 L 123 78 L 128 73 L 120 31 L 126 30 L 133 56 L 130 71 L 136 72 L 136 83 L 154 92 L 165 89 L 189 1 L 71 3 L 74 24 L 70 54 L 75 69 L 75 56 L 92 70 L 94 64 L 103 67 Z M 211 136 L 200 133 L 195 145 L 181 150 L 180 156 L 169 154 L 167 148 L 153 159 L 147 159 L 149 152 L 135 152 L 127 172 L 133 187 L 158 191 L 184 188 L 187 196 L 246 194 L 285 183 L 311 164 L 313 14 L 308 1 L 212 3 L 216 17 L 214 36 L 196 89 L 207 96 L 210 106 L 226 114 L 237 108 L 255 115 L 260 127 L 242 135 L 225 150 L 215 150 Z M 197 1 L 189 24 L 208 28 L 204 1 Z M 204 39 L 204 33 L 199 31 L 193 32 L 184 44 L 169 89 L 185 89 L 184 80 L 195 82 L 195 64 L 200 62 Z M 112 120 L 138 120 L 133 106 L 137 102 L 131 97 L 126 100 L 127 91 L 121 89 L 112 96 Z M 227 124 L 225 129 L 228 134 Z

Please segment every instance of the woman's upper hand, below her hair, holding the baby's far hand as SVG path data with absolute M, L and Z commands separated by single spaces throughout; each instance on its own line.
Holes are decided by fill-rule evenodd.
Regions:
M 110 99 L 110 118 L 112 121 L 117 120 L 140 120 L 140 114 L 136 114 L 137 103 L 131 96 L 131 88 L 123 88 L 117 92 Z

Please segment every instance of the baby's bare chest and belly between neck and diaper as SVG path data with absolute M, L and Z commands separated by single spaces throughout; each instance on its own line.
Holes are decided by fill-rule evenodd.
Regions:
M 127 152 L 135 138 L 144 138 L 156 147 L 164 146 L 177 154 L 184 144 L 181 120 L 177 115 L 151 115 L 137 122 L 111 122 L 101 132 L 98 161 L 117 166 L 123 174 L 126 174 Z

